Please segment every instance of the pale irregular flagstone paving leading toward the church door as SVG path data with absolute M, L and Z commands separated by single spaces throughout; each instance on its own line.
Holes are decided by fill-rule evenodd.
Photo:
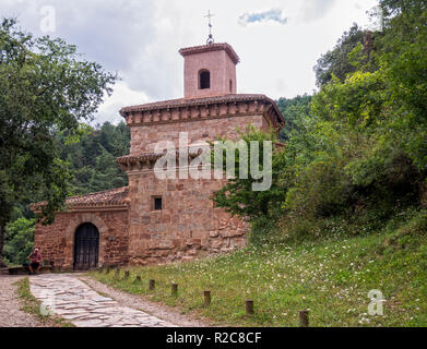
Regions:
M 41 311 L 59 315 L 78 327 L 175 327 L 174 324 L 92 290 L 75 276 L 38 275 L 29 278 L 31 292 Z

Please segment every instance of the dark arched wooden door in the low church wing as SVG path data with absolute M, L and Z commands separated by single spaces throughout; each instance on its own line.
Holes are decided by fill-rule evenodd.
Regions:
M 74 270 L 88 270 L 98 266 L 99 232 L 90 222 L 81 225 L 74 237 Z

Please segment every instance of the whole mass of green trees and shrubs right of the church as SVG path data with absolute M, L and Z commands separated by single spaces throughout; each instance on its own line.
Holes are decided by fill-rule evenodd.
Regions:
M 380 7 L 381 31 L 354 26 L 319 60 L 319 93 L 278 100 L 290 124 L 284 151 L 273 153 L 276 185 L 262 202 L 246 180 L 217 194 L 218 206 L 251 219 L 253 233 L 272 222 L 307 233 L 309 221 L 330 217 L 365 217 L 363 231 L 373 231 L 400 207 L 426 201 L 427 1 Z M 261 203 L 268 212 L 258 216 L 234 209 Z

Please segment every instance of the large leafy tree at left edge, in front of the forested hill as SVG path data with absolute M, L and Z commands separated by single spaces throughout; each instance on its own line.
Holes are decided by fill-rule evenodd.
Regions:
M 82 60 L 76 47 L 37 38 L 0 24 L 0 264 L 13 205 L 44 198 L 45 222 L 69 193 L 70 173 L 59 156 L 57 132 L 81 133 L 117 76 Z

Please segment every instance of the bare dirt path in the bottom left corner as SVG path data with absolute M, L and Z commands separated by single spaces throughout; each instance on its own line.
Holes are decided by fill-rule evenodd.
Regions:
M 13 284 L 24 277 L 0 275 L 0 327 L 44 327 L 35 316 L 21 310 L 22 303 Z

